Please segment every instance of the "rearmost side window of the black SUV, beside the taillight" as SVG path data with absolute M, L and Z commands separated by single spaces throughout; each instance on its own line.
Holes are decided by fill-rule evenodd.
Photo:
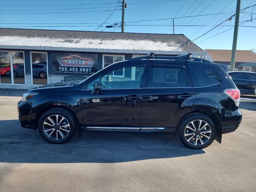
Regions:
M 189 70 L 194 87 L 210 86 L 221 82 L 220 76 L 210 67 L 190 65 Z

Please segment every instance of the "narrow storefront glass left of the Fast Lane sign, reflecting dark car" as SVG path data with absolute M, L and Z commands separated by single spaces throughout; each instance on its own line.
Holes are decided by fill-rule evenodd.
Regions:
M 31 52 L 31 72 L 34 85 L 47 84 L 47 53 Z

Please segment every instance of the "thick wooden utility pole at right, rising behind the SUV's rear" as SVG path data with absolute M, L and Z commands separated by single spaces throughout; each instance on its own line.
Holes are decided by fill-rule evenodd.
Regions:
M 236 62 L 236 44 L 237 44 L 237 35 L 238 35 L 238 26 L 239 26 L 240 4 L 241 4 L 241 0 L 237 0 L 236 1 L 236 19 L 235 19 L 232 54 L 231 54 L 231 62 L 230 62 L 231 71 L 234 71 L 235 62 Z

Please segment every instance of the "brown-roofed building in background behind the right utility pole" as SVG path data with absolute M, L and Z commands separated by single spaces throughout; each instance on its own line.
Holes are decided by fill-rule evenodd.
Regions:
M 230 65 L 232 50 L 206 49 L 206 59 L 215 62 Z M 256 54 L 251 50 L 236 50 L 236 71 L 256 72 Z

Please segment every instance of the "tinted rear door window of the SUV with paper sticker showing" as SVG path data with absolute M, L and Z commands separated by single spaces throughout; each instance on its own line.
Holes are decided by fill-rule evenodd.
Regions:
M 189 76 L 184 66 L 152 66 L 150 71 L 150 77 L 146 87 L 175 88 L 189 86 Z

